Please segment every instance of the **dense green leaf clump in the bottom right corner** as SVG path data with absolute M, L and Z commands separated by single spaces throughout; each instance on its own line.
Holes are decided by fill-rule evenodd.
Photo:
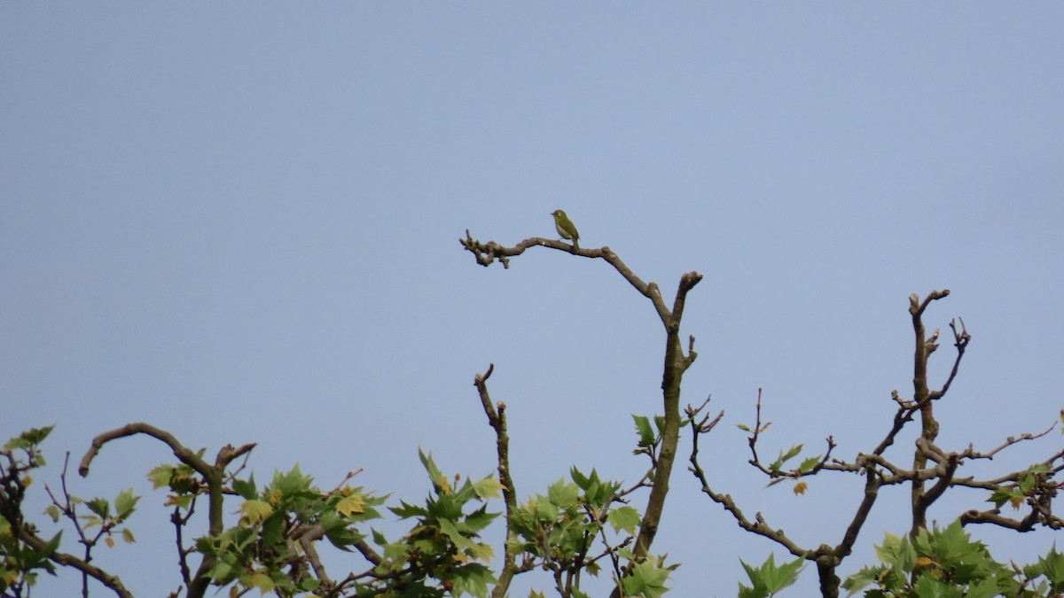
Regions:
M 865 598 L 1036 598 L 1064 592 L 1064 554 L 1053 548 L 1025 567 L 995 561 L 959 521 L 921 529 L 916 536 L 886 534 L 876 547 L 882 564 L 862 568 L 843 583 Z

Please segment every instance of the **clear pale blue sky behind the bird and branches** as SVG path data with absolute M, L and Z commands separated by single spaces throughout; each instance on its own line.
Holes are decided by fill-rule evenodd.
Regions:
M 522 496 L 572 464 L 632 482 L 630 414 L 660 409 L 650 303 L 601 262 L 484 269 L 458 244 L 553 236 L 563 207 L 668 297 L 705 276 L 684 398 L 727 416 L 703 463 L 748 512 L 835 544 L 860 481 L 765 489 L 734 425 L 763 386 L 765 453 L 868 450 L 910 391 L 910 293 L 952 289 L 928 326 L 974 335 L 946 448 L 1064 405 L 1062 23 L 1049 2 L 3 3 L 0 436 L 55 423 L 53 484 L 64 451 L 145 420 L 212 452 L 260 443 L 261 479 L 362 467 L 417 500 L 418 447 L 492 471 L 471 383 L 494 362 Z M 147 493 L 167 456 L 123 441 L 73 492 Z M 654 549 L 683 563 L 676 595 L 734 595 L 738 560 L 776 546 L 683 464 L 674 480 Z M 100 555 L 144 596 L 177 586 L 162 498 L 136 548 Z M 846 572 L 907 521 L 884 492 Z M 1054 539 L 979 532 L 1005 560 Z

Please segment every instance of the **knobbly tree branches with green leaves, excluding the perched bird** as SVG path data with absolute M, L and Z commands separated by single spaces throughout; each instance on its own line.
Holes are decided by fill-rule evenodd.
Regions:
M 530 245 L 503 248 L 495 244 L 484 246 L 469 237 L 467 247 L 478 253 L 478 263 L 487 265 L 495 258 L 519 254 L 531 245 L 542 244 L 541 240 L 530 239 Z M 463 242 L 464 245 L 467 243 Z M 169 491 L 166 504 L 173 510 L 171 521 L 177 534 L 181 580 L 190 598 L 204 596 L 211 585 L 228 587 L 233 597 L 252 591 L 279 597 L 307 594 L 320 598 L 415 598 L 465 594 L 501 597 L 506 595 L 514 576 L 535 569 L 552 576 L 554 589 L 563 598 L 584 598 L 587 594 L 581 589 L 583 574 L 586 571 L 597 577 L 606 566 L 613 582 L 612 596 L 656 598 L 667 592 L 666 582 L 677 565 L 666 565 L 664 558 L 651 554 L 649 549 L 669 488 L 679 430 L 689 426 L 693 432 L 689 470 L 701 483 L 702 492 L 728 511 L 742 529 L 776 542 L 798 558 L 780 566 L 776 565 L 774 555 L 759 567 L 743 563 L 751 585 L 739 584 L 741 598 L 776 596 L 795 583 L 804 562 L 816 563 L 820 592 L 827 598 L 838 596 L 841 588 L 850 591 L 850 594 L 863 591 L 867 598 L 1033 598 L 1059 596 L 1064 591 L 1064 557 L 1058 554 L 1055 549 L 1033 565 L 1010 567 L 994 561 L 981 543 L 971 542 L 964 532 L 963 526 L 969 524 L 992 524 L 1017 531 L 1029 531 L 1036 525 L 1050 529 L 1064 528 L 1064 520 L 1053 515 L 1051 509 L 1052 499 L 1059 491 L 1054 476 L 1064 470 L 1064 450 L 1026 470 L 991 480 L 957 476 L 958 468 L 966 461 L 991 460 L 997 452 L 1016 443 L 1044 436 L 1049 430 L 1040 434 L 1010 436 L 1001 446 L 990 451 L 977 451 L 971 446 L 961 451 L 948 451 L 937 446 L 940 422 L 934 418 L 934 402 L 949 389 L 970 340 L 963 321 L 959 327 L 950 322 L 957 358 L 946 381 L 937 389 L 931 389 L 927 380 L 927 364 L 928 358 L 938 347 L 938 331 L 927 336 L 921 316 L 932 301 L 948 296 L 948 290 L 934 292 L 922 301 L 915 294 L 910 297 L 917 347 L 913 396 L 909 399 L 902 398 L 897 391 L 892 393 L 897 411 L 890 431 L 872 450 L 861 452 L 854 461 L 832 459 L 836 445 L 831 436 L 827 438 L 827 451 L 822 454 L 802 456 L 803 445 L 795 445 L 780 451 L 775 461 L 762 461 L 758 442 L 770 422 L 762 421 L 759 391 L 754 425 L 741 425 L 739 428 L 749 434 L 749 463 L 768 477 L 768 485 L 795 480 L 795 494 L 802 494 L 807 487 L 804 479 L 820 471 L 859 474 L 865 480 L 864 497 L 842 542 L 834 546 L 821 543 L 815 548 L 802 547 L 781 529 L 770 526 L 762 513 L 747 517 L 731 496 L 712 487 L 698 462 L 699 437 L 713 430 L 724 412 L 715 418 L 701 414 L 709 403 L 706 399 L 699 408 L 688 406 L 684 412 L 685 418 L 680 415 L 680 382 L 683 372 L 697 356 L 694 337 L 689 337 L 684 353 L 679 337 L 680 317 L 683 298 L 701 280 L 701 275 L 684 275 L 670 311 L 656 284 L 644 283 L 608 248 L 580 250 L 567 245 L 563 247 L 572 252 L 579 251 L 581 255 L 602 258 L 613 265 L 651 299 L 667 331 L 662 382 L 665 414 L 653 418 L 633 416 L 638 435 L 633 452 L 645 455 L 650 461 L 650 467 L 643 479 L 628 489 L 621 489 L 617 482 L 600 479 L 595 470 L 585 475 L 572 468 L 571 481 L 559 480 L 547 488 L 545 495 L 537 494 L 518 504 L 510 477 L 505 404 L 499 401 L 493 405 L 485 383 L 494 366 L 485 375 L 477 377 L 476 386 L 488 423 L 496 431 L 500 477 L 489 476 L 479 481 L 467 478 L 462 482 L 460 476 L 451 479 L 444 475 L 431 456 L 420 453 L 432 484 L 432 494 L 423 504 L 400 502 L 399 506 L 389 508 L 392 514 L 400 519 L 412 520 L 410 531 L 394 542 L 380 531 L 365 527 L 369 521 L 381 518 L 377 508 L 383 505 L 387 497 L 375 496 L 362 487 L 348 485 L 354 474 L 349 474 L 334 489 L 326 492 L 314 486 L 313 480 L 296 466 L 287 472 L 275 474 L 270 484 L 259 489 L 252 476 L 242 477 L 244 465 L 233 467 L 237 458 L 243 455 L 247 459 L 253 444 L 239 448 L 223 447 L 214 462 L 209 463 L 204 460 L 204 450 L 192 451 L 173 435 L 153 426 L 130 423 L 97 436 L 83 458 L 79 472 L 87 475 L 99 449 L 115 438 L 145 434 L 172 449 L 179 463 L 156 467 L 149 474 L 149 479 L 156 488 Z M 912 467 L 887 461 L 886 450 L 895 444 L 907 423 L 917 419 L 920 435 L 912 456 Z M 60 534 L 45 539 L 37 535 L 33 524 L 23 520 L 23 497 L 26 488 L 33 482 L 30 472 L 44 465 L 38 445 L 50 431 L 51 428 L 30 430 L 13 438 L 0 451 L 0 595 L 28 595 L 28 587 L 33 585 L 38 572 L 54 572 L 59 564 L 82 572 L 84 595 L 88 594 L 88 580 L 95 579 L 119 598 L 131 597 L 132 594 L 126 591 L 117 577 L 92 564 L 92 550 L 100 542 L 113 546 L 115 536 L 130 543 L 134 541 L 132 532 L 126 527 L 138 500 L 132 491 L 123 491 L 113 500 L 80 499 L 67 492 L 66 467 L 61 478 L 62 493 L 52 493 L 46 485 L 51 498 L 46 514 L 55 522 L 67 519 L 72 524 L 77 541 L 83 547 L 80 557 L 60 551 Z M 878 547 L 882 564 L 865 567 L 842 582 L 836 570 L 851 553 L 858 532 L 866 522 L 880 488 L 901 484 L 912 486 L 910 535 L 887 535 L 883 545 Z M 946 529 L 929 530 L 928 509 L 947 488 L 953 486 L 990 491 L 988 501 L 995 509 L 982 512 L 968 510 Z M 639 488 L 650 488 L 644 515 L 628 504 L 628 496 Z M 486 500 L 500 495 L 506 512 L 503 519 L 506 541 L 502 565 L 496 568 L 496 577 L 488 566 L 495 557 L 494 550 L 481 539 L 481 533 L 500 515 L 487 511 Z M 223 502 L 227 497 L 237 497 L 242 501 L 235 522 L 226 522 Z M 186 542 L 183 530 L 201 499 L 207 503 L 207 533 Z M 1002 516 L 1000 509 L 1005 503 L 1016 510 L 1026 504 L 1030 513 L 1023 518 Z M 84 513 L 85 510 L 87 513 Z M 228 512 L 232 512 L 231 508 Z M 328 541 L 345 552 L 361 555 L 362 561 L 350 565 L 351 572 L 345 577 L 333 578 L 317 553 L 321 541 Z M 367 541 L 371 541 L 376 548 Z M 195 569 L 190 564 L 194 559 L 198 560 Z M 532 592 L 530 598 L 542 596 Z

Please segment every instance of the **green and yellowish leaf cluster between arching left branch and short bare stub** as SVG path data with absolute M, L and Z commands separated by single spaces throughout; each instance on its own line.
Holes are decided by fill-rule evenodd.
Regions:
M 311 592 L 319 596 L 414 597 L 447 592 L 485 596 L 493 577 L 482 562 L 493 553 L 489 545 L 478 539 L 478 532 L 497 514 L 488 513 L 485 504 L 468 514 L 465 510 L 471 501 L 499 496 L 498 480 L 466 480 L 454 489 L 431 456 L 421 453 L 421 462 L 434 493 L 423 506 L 402 502 L 390 509 L 401 519 L 416 519 L 412 531 L 396 542 L 360 528 L 381 518 L 377 508 L 386 496 L 346 483 L 323 492 L 297 465 L 276 472 L 262 489 L 253 476 L 233 477 L 232 492 L 244 500 L 238 521 L 198 538 L 194 551 L 214 562 L 205 572 L 213 584 L 232 584 L 238 593 L 253 588 L 278 596 Z M 155 487 L 169 487 L 167 502 L 182 520 L 190 516 L 196 497 L 206 487 L 185 465 L 161 465 L 149 479 Z M 380 553 L 365 542 L 370 536 Z M 362 553 L 368 568 L 332 580 L 314 548 L 321 538 L 340 550 Z

